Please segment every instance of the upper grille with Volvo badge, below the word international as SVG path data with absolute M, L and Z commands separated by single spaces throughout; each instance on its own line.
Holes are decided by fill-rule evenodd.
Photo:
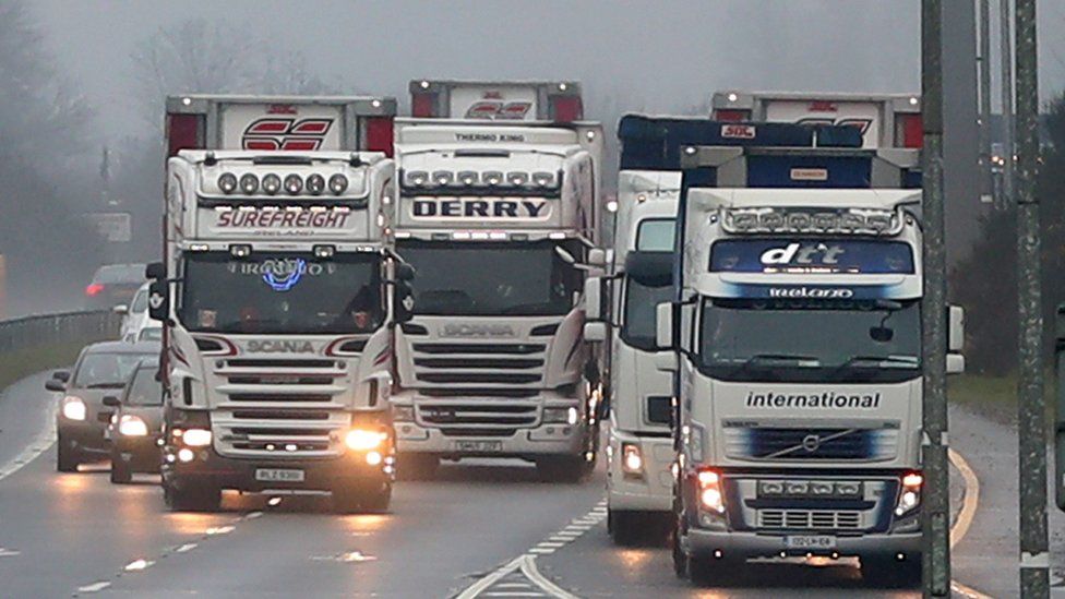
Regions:
M 897 429 L 728 428 L 726 452 L 753 460 L 886 460 L 898 453 Z

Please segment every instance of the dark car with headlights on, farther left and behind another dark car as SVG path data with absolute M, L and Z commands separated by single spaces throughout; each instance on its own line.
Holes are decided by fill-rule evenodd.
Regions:
M 45 388 L 64 393 L 56 415 L 56 468 L 60 472 L 77 471 L 83 462 L 110 455 L 104 433 L 115 408 L 104 405 L 104 396 L 121 394 L 137 364 L 158 356 L 157 343 L 104 342 L 82 349 L 73 371 L 52 373 Z

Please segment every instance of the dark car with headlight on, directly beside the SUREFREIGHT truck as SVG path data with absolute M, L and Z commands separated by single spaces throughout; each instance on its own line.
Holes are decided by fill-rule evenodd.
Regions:
M 111 482 L 129 482 L 133 472 L 157 474 L 163 459 L 163 384 L 158 359 L 133 370 L 121 395 L 104 396 L 115 408 L 107 436 L 111 441 Z

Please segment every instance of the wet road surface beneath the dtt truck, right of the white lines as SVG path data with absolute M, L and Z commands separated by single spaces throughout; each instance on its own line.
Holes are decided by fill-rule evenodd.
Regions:
M 909 589 L 872 587 L 854 560 L 747 563 L 719 585 L 696 587 L 673 574 L 665 543 L 613 544 L 606 525 L 537 560 L 540 572 L 579 597 L 919 597 Z

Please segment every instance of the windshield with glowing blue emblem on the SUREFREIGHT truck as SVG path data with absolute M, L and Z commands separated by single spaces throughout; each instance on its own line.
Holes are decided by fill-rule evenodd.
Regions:
M 384 319 L 380 256 L 186 254 L 178 318 L 215 333 L 364 333 Z

